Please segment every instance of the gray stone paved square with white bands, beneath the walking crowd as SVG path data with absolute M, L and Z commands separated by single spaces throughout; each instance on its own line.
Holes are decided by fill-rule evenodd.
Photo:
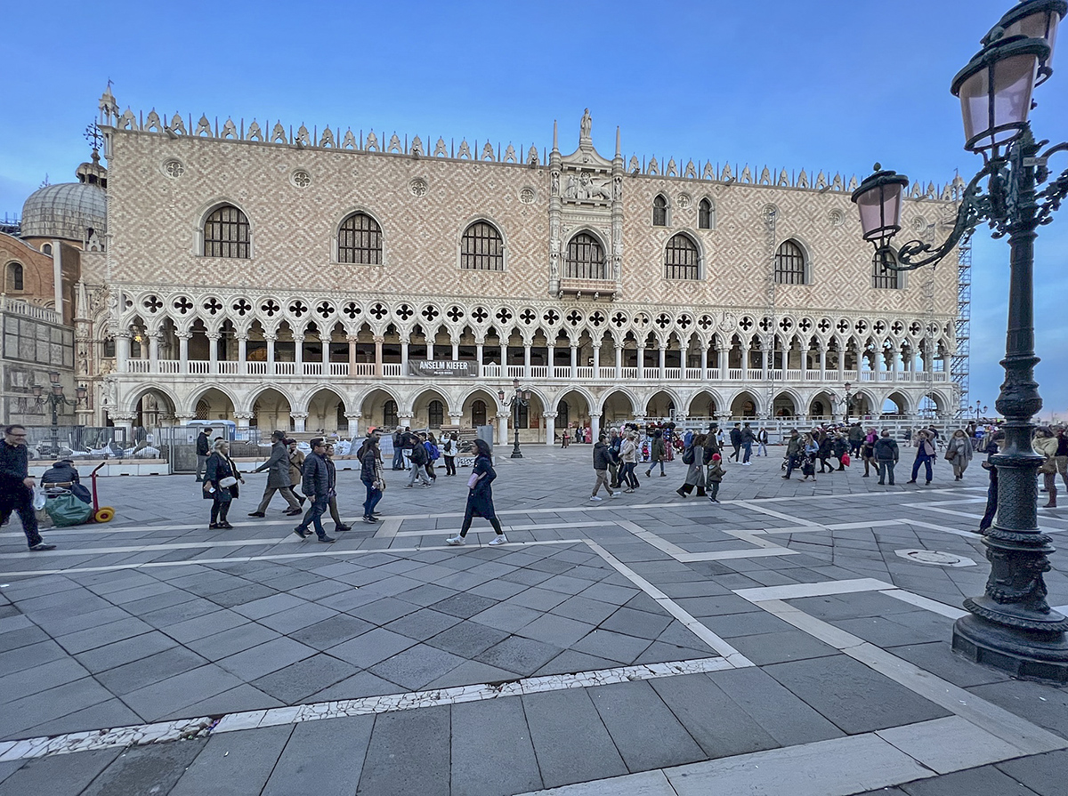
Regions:
M 498 467 L 500 547 L 477 520 L 467 546 L 444 544 L 462 478 L 388 490 L 387 522 L 334 545 L 301 542 L 277 511 L 209 534 L 185 476 L 101 482 L 115 521 L 46 531 L 47 555 L 20 556 L 5 529 L 0 796 L 45 781 L 53 796 L 148 781 L 180 796 L 233 777 L 256 794 L 608 794 L 832 742 L 828 770 L 855 749 L 900 771 L 886 781 L 899 793 L 927 792 L 915 766 L 923 787 L 994 771 L 1042 793 L 1041 755 L 1068 749 L 1059 689 L 949 650 L 989 571 L 971 532 L 981 471 L 945 482 L 940 466 L 926 489 L 857 468 L 813 484 L 781 480 L 773 455 L 729 466 L 714 506 L 675 494 L 677 463 L 592 505 L 588 446 L 528 446 Z M 362 488 L 351 472 L 340 484 L 351 516 Z M 127 519 L 132 506 L 151 520 Z M 1055 539 L 1061 511 L 1041 514 Z M 1068 560 L 1051 560 L 1050 602 L 1068 604 Z M 109 741 L 79 750 L 85 731 Z M 137 743 L 154 732 L 168 739 Z M 44 757 L 23 743 L 38 737 Z

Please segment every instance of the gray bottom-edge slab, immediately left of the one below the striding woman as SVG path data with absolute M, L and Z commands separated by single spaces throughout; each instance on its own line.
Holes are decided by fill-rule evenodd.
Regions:
M 375 717 L 358 796 L 450 796 L 447 706 Z

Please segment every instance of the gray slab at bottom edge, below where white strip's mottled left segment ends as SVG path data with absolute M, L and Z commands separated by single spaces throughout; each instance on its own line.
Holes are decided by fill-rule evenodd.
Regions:
M 293 727 L 213 735 L 168 796 L 260 796 Z

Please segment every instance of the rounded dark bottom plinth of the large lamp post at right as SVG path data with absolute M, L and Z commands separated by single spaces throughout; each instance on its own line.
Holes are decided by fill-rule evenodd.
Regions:
M 1068 639 L 988 622 L 975 615 L 953 625 L 953 650 L 1018 678 L 1068 683 Z

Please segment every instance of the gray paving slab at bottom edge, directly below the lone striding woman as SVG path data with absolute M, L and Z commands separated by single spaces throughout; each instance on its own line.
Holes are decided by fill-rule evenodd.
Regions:
M 541 789 L 521 700 L 453 705 L 451 727 L 453 796 L 511 796 Z

